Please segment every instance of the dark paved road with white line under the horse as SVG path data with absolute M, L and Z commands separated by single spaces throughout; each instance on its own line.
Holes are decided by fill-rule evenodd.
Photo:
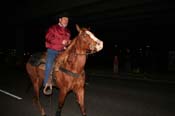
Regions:
M 0 116 L 39 116 L 32 104 L 29 80 L 19 70 L 1 70 Z M 89 76 L 86 85 L 88 116 L 175 116 L 175 84 Z M 6 91 L 14 96 L 9 96 Z M 54 116 L 57 94 L 41 95 L 48 116 Z M 81 116 L 74 94 L 65 101 L 62 116 Z

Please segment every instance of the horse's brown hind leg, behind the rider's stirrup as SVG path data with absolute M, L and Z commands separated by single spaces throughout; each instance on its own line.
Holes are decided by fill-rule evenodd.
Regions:
M 40 102 L 40 99 L 39 99 L 39 90 L 40 90 L 39 79 L 35 80 L 35 82 L 33 83 L 33 86 L 34 86 L 34 92 L 35 92 L 34 102 L 37 105 L 37 107 L 39 108 L 39 111 L 40 111 L 41 115 L 46 116 L 44 108 L 41 105 L 41 102 Z

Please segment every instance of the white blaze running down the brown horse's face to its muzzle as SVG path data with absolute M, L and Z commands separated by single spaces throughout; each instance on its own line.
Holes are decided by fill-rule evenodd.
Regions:
M 86 31 L 86 33 L 95 41 L 97 42 L 95 48 L 97 51 L 100 51 L 103 49 L 103 41 L 99 40 L 97 37 L 94 36 L 90 31 Z

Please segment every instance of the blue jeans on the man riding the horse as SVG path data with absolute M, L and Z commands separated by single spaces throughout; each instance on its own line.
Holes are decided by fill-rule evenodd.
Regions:
M 55 60 L 55 58 L 58 54 L 59 54 L 59 51 L 52 50 L 52 49 L 47 49 L 44 86 L 46 85 L 46 83 L 49 79 L 49 76 L 50 76 L 50 73 L 51 73 L 51 70 L 52 70 L 52 67 L 53 67 L 54 60 Z

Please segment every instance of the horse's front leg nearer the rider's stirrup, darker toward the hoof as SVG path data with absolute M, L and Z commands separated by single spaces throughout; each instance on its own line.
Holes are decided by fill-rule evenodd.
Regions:
M 56 116 L 61 116 L 61 110 L 64 104 L 66 94 L 67 94 L 67 91 L 60 89 L 59 96 L 58 96 L 58 109 L 56 111 Z

